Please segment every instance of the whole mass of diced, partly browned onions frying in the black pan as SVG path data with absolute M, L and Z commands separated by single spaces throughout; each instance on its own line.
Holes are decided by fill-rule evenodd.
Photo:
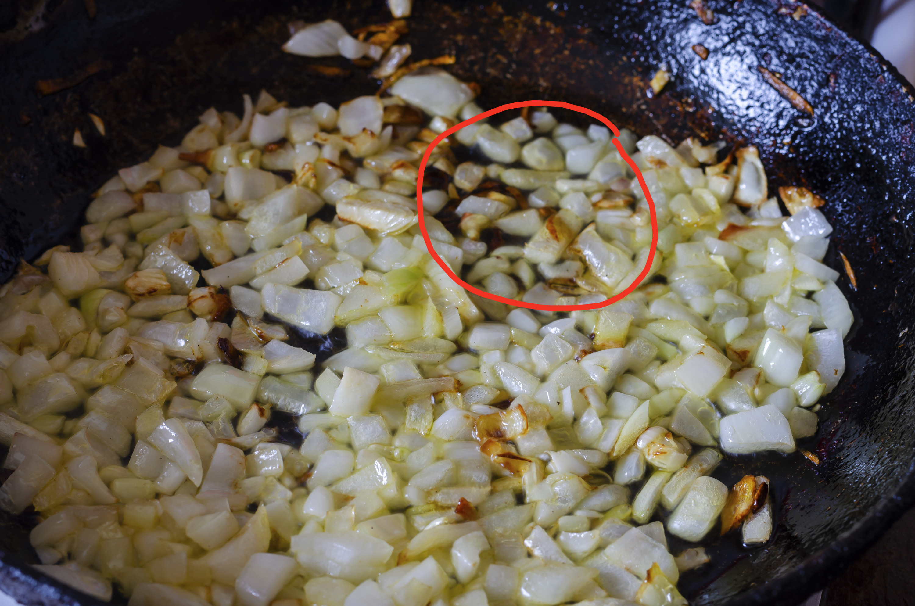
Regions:
M 285 50 L 392 76 L 409 46 L 377 39 L 325 21 Z M 135 605 L 660 606 L 708 561 L 667 533 L 769 540 L 769 480 L 712 474 L 794 452 L 845 370 L 823 200 L 782 216 L 753 147 L 532 108 L 440 142 L 418 202 L 475 90 L 427 68 L 211 108 L 0 288 L 0 508 L 34 508 L 43 571 Z M 626 298 L 512 307 L 433 259 L 519 302 L 619 294 L 651 220 L 617 144 L 659 230 Z

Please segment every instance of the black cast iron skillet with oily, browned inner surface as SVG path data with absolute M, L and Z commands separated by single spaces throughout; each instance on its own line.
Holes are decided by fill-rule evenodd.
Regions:
M 712 563 L 681 581 L 693 604 L 792 604 L 823 587 L 915 500 L 911 85 L 815 12 L 792 18 L 799 5 L 790 1 L 708 0 L 712 25 L 685 0 L 415 4 L 406 38 L 414 59 L 454 54 L 450 69 L 479 83 L 484 107 L 563 100 L 640 135 L 752 143 L 770 191 L 802 184 L 827 200 L 823 211 L 835 228 L 827 262 L 841 267 L 844 253 L 857 289 L 840 279 L 856 315 L 845 378 L 823 406 L 817 435 L 799 444 L 822 462 L 764 454 L 716 471 L 728 484 L 745 472 L 769 476 L 777 528 L 755 550 L 734 536 L 713 540 Z M 289 20 L 328 16 L 350 30 L 390 18 L 371 0 L 119 0 L 101 3 L 90 20 L 69 0 L 42 31 L 2 49 L 0 278 L 20 257 L 71 238 L 93 189 L 148 157 L 157 142 L 177 145 L 210 105 L 241 113 L 241 93 L 262 88 L 293 105 L 375 92 L 377 82 L 349 61 L 280 51 Z M 709 49 L 707 60 L 694 44 Z M 672 82 L 648 98 L 646 82 L 662 63 Z M 309 67 L 316 65 L 334 69 Z M 36 81 L 85 75 L 87 66 L 97 73 L 78 85 L 36 92 Z M 759 66 L 780 73 L 813 116 L 791 107 Z M 87 112 L 103 117 L 106 137 Z M 74 127 L 88 148 L 70 145 Z M 0 585 L 23 603 L 95 603 L 27 566 L 35 562 L 31 524 L 0 516 Z

